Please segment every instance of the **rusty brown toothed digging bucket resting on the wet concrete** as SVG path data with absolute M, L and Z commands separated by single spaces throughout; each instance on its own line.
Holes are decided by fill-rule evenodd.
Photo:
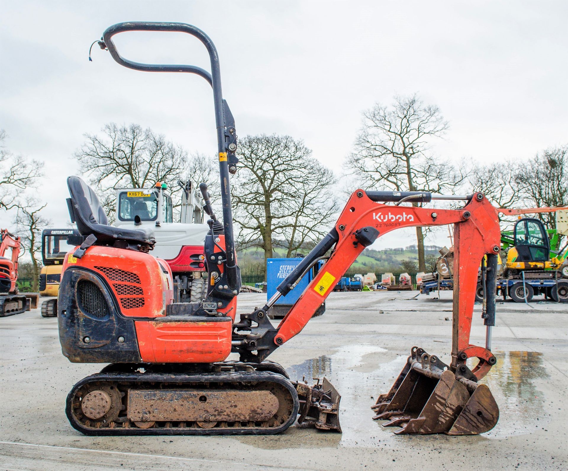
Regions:
M 412 347 L 388 394 L 371 407 L 373 419 L 389 419 L 385 427 L 400 426 L 396 434 L 477 435 L 491 430 L 499 407 L 486 385 L 478 385 L 465 364 L 457 376 L 448 365 Z

